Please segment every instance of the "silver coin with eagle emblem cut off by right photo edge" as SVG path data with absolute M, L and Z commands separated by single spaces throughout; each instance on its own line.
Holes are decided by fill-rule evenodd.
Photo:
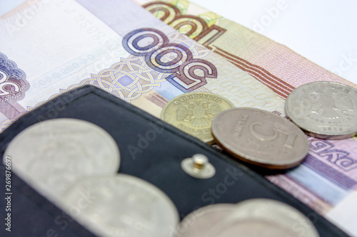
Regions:
M 345 139 L 357 134 L 357 90 L 328 81 L 301 85 L 288 95 L 286 116 L 308 135 Z

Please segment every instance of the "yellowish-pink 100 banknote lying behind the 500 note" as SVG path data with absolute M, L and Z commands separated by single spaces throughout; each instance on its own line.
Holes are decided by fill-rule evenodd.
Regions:
M 356 85 L 303 58 L 290 48 L 187 0 L 134 0 L 179 32 L 225 57 L 286 98 L 316 80 Z

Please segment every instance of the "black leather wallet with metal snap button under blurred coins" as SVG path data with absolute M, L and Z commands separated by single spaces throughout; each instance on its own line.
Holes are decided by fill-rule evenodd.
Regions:
M 11 139 L 26 127 L 61 117 L 93 122 L 109 132 L 120 149 L 118 172 L 158 186 L 174 201 L 181 218 L 208 204 L 266 198 L 283 201 L 301 211 L 313 221 L 320 236 L 347 236 L 316 211 L 265 179 L 260 172 L 91 85 L 64 93 L 20 117 L 0 135 L 1 157 Z M 198 153 L 205 154 L 216 168 L 211 179 L 195 179 L 181 169 L 183 159 Z M 0 214 L 4 222 L 4 164 L 1 164 L 0 172 L 3 209 Z M 12 173 L 11 182 L 11 233 L 5 231 L 4 223 L 1 223 L 0 236 L 94 236 L 32 189 L 26 180 Z

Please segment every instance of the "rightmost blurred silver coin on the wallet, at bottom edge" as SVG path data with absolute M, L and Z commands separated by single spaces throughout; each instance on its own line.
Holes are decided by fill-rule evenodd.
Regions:
M 207 237 L 318 237 L 313 223 L 280 201 L 249 199 L 239 203 Z

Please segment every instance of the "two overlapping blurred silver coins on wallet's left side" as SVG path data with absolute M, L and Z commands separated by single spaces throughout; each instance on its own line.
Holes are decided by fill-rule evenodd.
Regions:
M 83 120 L 39 122 L 6 148 L 16 174 L 98 236 L 169 236 L 178 211 L 147 181 L 117 174 L 115 140 Z

